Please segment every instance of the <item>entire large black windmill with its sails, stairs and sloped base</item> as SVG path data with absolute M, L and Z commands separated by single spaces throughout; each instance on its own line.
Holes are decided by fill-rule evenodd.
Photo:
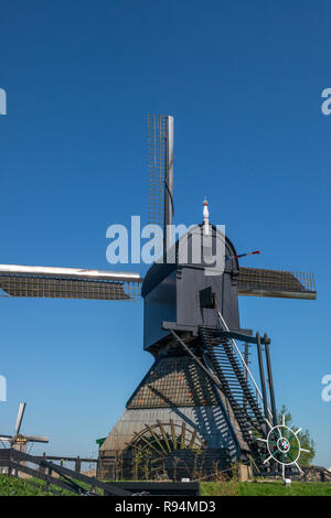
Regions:
M 108 301 L 142 296 L 143 349 L 154 361 L 99 447 L 98 476 L 210 476 L 235 461 L 249 463 L 258 474 L 277 472 L 267 439 L 268 427 L 277 427 L 270 338 L 241 327 L 238 296 L 314 300 L 313 274 L 241 267 L 243 255 L 209 222 L 206 201 L 203 223 L 174 242 L 173 117 L 149 116 L 148 142 L 149 223 L 163 227 L 163 260 L 145 278 L 2 265 L 1 294 Z M 223 268 L 205 274 L 220 249 Z M 259 379 L 238 342 L 255 348 Z

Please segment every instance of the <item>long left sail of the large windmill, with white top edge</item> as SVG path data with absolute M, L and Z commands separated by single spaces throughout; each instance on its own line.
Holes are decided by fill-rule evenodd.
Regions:
M 0 296 L 124 301 L 141 283 L 135 272 L 0 265 Z

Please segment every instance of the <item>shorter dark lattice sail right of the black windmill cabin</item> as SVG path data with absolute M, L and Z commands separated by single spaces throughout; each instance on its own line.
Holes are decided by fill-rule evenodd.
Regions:
M 317 298 L 313 273 L 239 268 L 238 295 L 280 299 Z

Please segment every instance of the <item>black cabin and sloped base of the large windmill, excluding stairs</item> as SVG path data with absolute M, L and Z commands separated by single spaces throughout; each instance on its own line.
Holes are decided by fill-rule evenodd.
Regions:
M 211 228 L 213 242 L 224 241 L 224 236 Z M 150 475 L 156 478 L 173 476 L 175 462 L 177 477 L 192 477 L 194 468 L 211 472 L 215 464 L 224 470 L 246 447 L 233 412 L 225 408 L 226 398 L 170 332 L 184 334 L 201 358 L 200 327 L 218 327 L 215 299 L 231 328 L 243 331 L 236 281 L 232 279 L 233 272 L 238 271 L 237 260 L 228 261 L 220 276 L 205 276 L 206 265 L 192 262 L 192 236 L 202 236 L 203 230 L 203 225 L 196 225 L 189 237 L 181 238 L 189 240 L 186 262 L 179 263 L 178 241 L 177 261 L 154 263 L 145 277 L 143 347 L 153 355 L 154 363 L 100 447 L 99 476 L 118 475 L 116 457 L 120 454 L 122 476 L 130 477 L 136 454 L 145 451 L 147 442 L 152 443 Z M 228 256 L 236 255 L 227 238 L 225 247 Z M 201 458 L 196 458 L 197 450 L 203 452 Z

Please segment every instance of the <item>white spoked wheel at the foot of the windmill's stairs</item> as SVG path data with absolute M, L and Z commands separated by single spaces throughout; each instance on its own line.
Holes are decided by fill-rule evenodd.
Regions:
M 267 421 L 269 432 L 267 439 L 258 438 L 258 441 L 265 442 L 268 449 L 268 456 L 264 461 L 264 464 L 274 460 L 281 466 L 282 478 L 285 478 L 285 471 L 288 466 L 296 466 L 300 473 L 303 473 L 300 468 L 298 461 L 301 452 L 309 452 L 301 447 L 299 433 L 301 429 L 295 431 L 285 424 L 285 416 L 282 416 L 282 423 L 271 427 Z

